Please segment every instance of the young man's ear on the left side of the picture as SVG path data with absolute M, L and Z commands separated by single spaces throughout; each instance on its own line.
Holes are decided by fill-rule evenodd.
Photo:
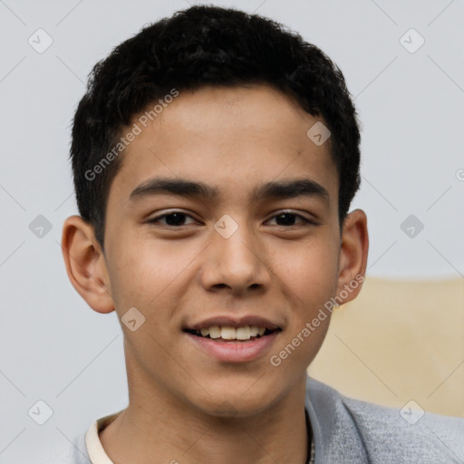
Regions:
M 111 313 L 110 279 L 93 227 L 80 216 L 64 221 L 62 251 L 66 272 L 77 293 L 97 313 Z

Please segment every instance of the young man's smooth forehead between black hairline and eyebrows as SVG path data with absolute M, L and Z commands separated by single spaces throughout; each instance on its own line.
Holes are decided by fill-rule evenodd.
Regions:
M 322 120 L 284 93 L 266 85 L 210 86 L 169 101 L 156 116 L 150 106 L 133 119 L 131 128 L 140 131 L 121 155 L 110 198 L 130 204 L 131 193 L 155 177 L 198 180 L 219 199 L 256 198 L 256 186 L 271 179 L 310 179 L 335 193 L 330 139 L 316 145 L 307 136 Z

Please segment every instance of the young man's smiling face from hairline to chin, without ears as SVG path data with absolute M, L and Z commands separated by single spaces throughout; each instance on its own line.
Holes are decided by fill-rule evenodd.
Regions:
M 330 312 L 304 328 L 343 267 L 330 139 L 306 135 L 316 121 L 256 86 L 180 92 L 139 123 L 111 183 L 104 256 L 118 317 L 135 321 L 121 324 L 130 390 L 247 416 L 302 378 Z

